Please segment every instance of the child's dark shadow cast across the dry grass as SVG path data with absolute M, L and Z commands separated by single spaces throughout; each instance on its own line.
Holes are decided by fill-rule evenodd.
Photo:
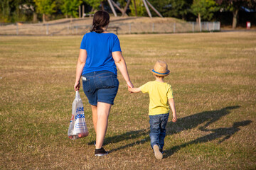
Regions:
M 198 144 L 198 143 L 204 143 L 204 142 L 210 142 L 212 140 L 218 139 L 220 137 L 223 137 L 223 139 L 219 140 L 218 143 L 221 143 L 225 140 L 228 140 L 232 135 L 235 134 L 235 132 L 238 132 L 240 130 L 240 126 L 246 126 L 252 123 L 251 120 L 245 120 L 241 122 L 235 122 L 233 123 L 233 126 L 231 128 L 217 128 L 217 129 L 206 129 L 206 127 L 199 128 L 202 131 L 206 132 L 212 132 L 209 135 L 198 137 L 196 140 L 192 140 L 191 142 L 186 142 L 182 145 L 178 145 L 175 147 L 172 147 L 171 149 L 168 149 L 165 151 L 165 157 L 170 157 L 172 154 L 177 152 L 179 149 L 183 147 L 187 147 L 189 145 Z

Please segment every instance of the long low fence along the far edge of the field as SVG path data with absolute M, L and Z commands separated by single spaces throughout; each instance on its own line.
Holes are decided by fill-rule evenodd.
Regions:
M 220 31 L 220 22 L 187 23 L 110 23 L 118 27 L 118 34 L 135 33 L 194 33 Z M 53 24 L 11 24 L 0 26 L 0 35 L 83 35 L 90 31 L 91 25 L 79 23 Z M 114 32 L 115 33 L 115 32 Z

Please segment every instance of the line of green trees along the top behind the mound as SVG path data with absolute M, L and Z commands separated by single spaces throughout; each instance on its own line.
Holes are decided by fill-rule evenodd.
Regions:
M 114 4 L 124 10 L 129 3 L 128 16 L 147 16 L 142 0 L 113 0 Z M 256 10 L 256 0 L 148 0 L 164 17 L 176 17 L 186 21 L 194 18 L 202 21 L 213 21 L 216 12 L 233 13 L 233 28 L 238 23 L 238 11 L 241 8 Z M 94 13 L 102 9 L 110 11 L 107 0 L 1 0 L 0 22 L 15 23 L 18 21 L 45 22 L 63 17 L 77 18 L 79 6 L 85 6 L 85 13 Z M 117 7 L 116 6 L 116 7 Z M 117 10 L 118 11 L 118 10 Z M 124 14 L 124 13 L 122 13 Z M 152 13 L 157 16 L 156 13 Z

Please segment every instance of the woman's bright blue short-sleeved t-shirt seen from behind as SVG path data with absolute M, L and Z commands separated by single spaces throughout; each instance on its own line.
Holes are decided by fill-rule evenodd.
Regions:
M 87 52 L 82 75 L 97 71 L 110 71 L 117 74 L 117 67 L 112 57 L 112 52 L 121 52 L 117 35 L 113 33 L 86 33 L 82 38 L 80 49 Z

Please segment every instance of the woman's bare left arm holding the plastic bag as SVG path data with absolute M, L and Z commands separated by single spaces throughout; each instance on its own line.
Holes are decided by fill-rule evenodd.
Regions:
M 86 58 L 87 58 L 86 50 L 80 49 L 78 64 L 77 64 L 76 74 L 75 74 L 75 85 L 74 85 L 75 91 L 78 91 L 80 89 L 80 78 L 82 75 L 82 69 L 83 67 L 85 67 Z

